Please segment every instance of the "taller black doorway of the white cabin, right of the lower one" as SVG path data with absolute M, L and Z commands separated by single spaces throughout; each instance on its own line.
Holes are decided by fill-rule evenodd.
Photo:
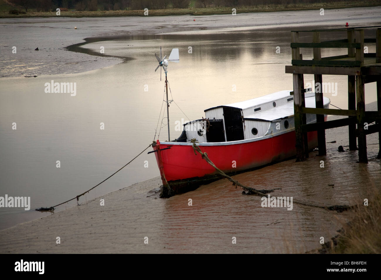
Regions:
M 245 139 L 241 109 L 224 107 L 226 141 Z

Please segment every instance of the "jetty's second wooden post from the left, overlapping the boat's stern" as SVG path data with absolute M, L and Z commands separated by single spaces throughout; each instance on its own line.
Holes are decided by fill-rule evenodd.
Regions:
M 320 32 L 314 32 L 312 35 L 312 43 L 320 43 Z M 320 48 L 314 48 L 314 60 L 321 60 L 322 59 L 322 52 Z M 315 85 L 312 85 L 315 88 L 315 104 L 316 108 L 324 108 L 323 105 L 323 77 L 320 74 L 314 75 L 315 85 L 316 83 L 319 83 L 320 90 L 316 90 L 317 87 Z M 316 122 L 324 122 L 324 115 L 316 115 Z M 325 130 L 319 129 L 317 131 L 317 144 L 319 146 L 319 155 L 326 155 L 327 149 L 325 146 Z

